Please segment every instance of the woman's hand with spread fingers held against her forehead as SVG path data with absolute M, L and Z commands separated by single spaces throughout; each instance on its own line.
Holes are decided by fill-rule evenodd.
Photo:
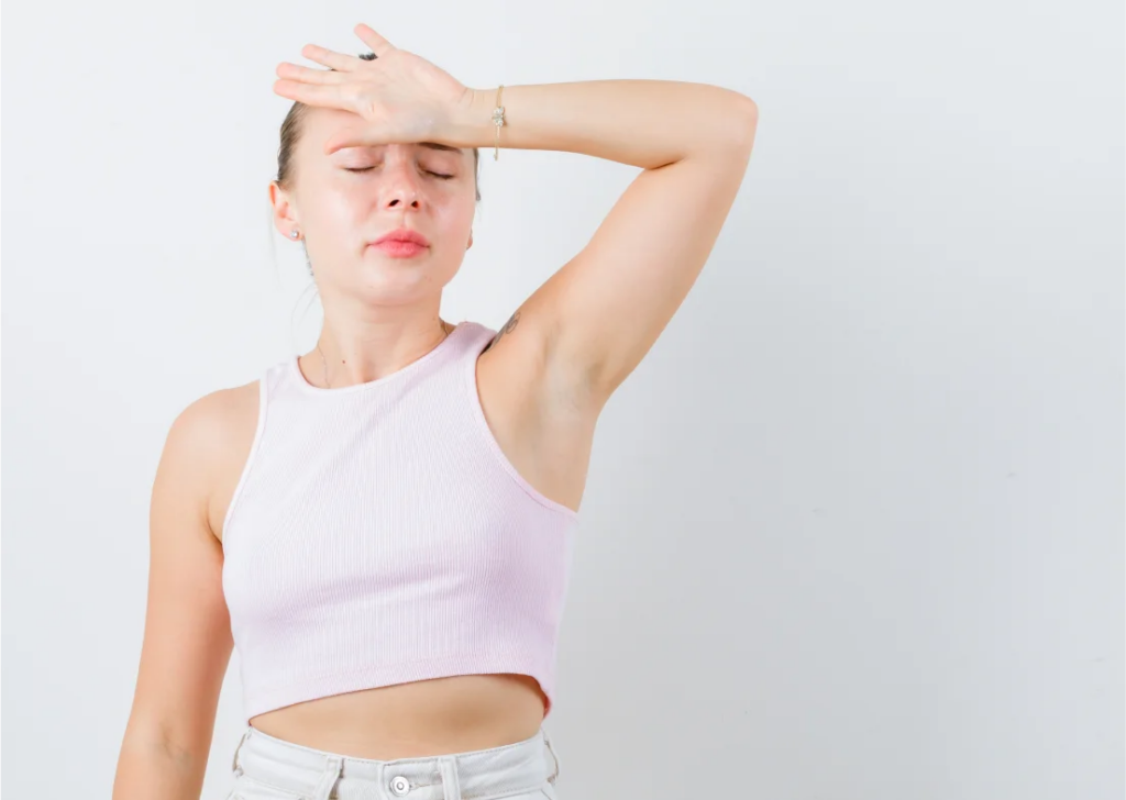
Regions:
M 374 61 L 305 45 L 303 56 L 330 69 L 287 62 L 277 68 L 282 80 L 274 91 L 282 97 L 363 117 L 325 143 L 327 155 L 341 147 L 437 141 L 432 137 L 472 104 L 472 89 L 426 59 L 394 47 L 363 23 L 355 32 L 375 53 Z

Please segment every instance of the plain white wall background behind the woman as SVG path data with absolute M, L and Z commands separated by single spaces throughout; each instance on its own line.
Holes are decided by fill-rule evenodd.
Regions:
M 1126 797 L 1114 6 L 3 2 L 0 795 L 109 795 L 168 428 L 319 330 L 269 223 L 274 69 L 366 21 L 472 87 L 759 105 L 708 266 L 599 422 L 562 797 Z M 443 315 L 503 324 L 635 174 L 482 150 Z

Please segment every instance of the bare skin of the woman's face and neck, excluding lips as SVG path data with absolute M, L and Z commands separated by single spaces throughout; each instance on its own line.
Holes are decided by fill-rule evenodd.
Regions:
M 331 386 L 372 380 L 437 344 L 445 336 L 441 290 L 473 244 L 472 151 L 393 144 L 325 155 L 324 141 L 355 122 L 348 111 L 310 109 L 294 149 L 293 186 L 270 183 L 275 225 L 287 237 L 300 232 L 313 266 Z M 393 259 L 368 246 L 396 227 L 426 236 L 428 252 Z M 323 383 L 320 353 L 313 357 L 301 366 Z

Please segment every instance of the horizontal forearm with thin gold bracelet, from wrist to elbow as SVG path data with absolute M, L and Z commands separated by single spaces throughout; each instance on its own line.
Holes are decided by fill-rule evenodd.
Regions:
M 474 89 L 444 144 L 492 149 L 497 88 Z M 707 83 L 601 80 L 506 86 L 500 147 L 584 153 L 655 169 L 694 153 L 744 146 L 758 109 L 745 95 Z

